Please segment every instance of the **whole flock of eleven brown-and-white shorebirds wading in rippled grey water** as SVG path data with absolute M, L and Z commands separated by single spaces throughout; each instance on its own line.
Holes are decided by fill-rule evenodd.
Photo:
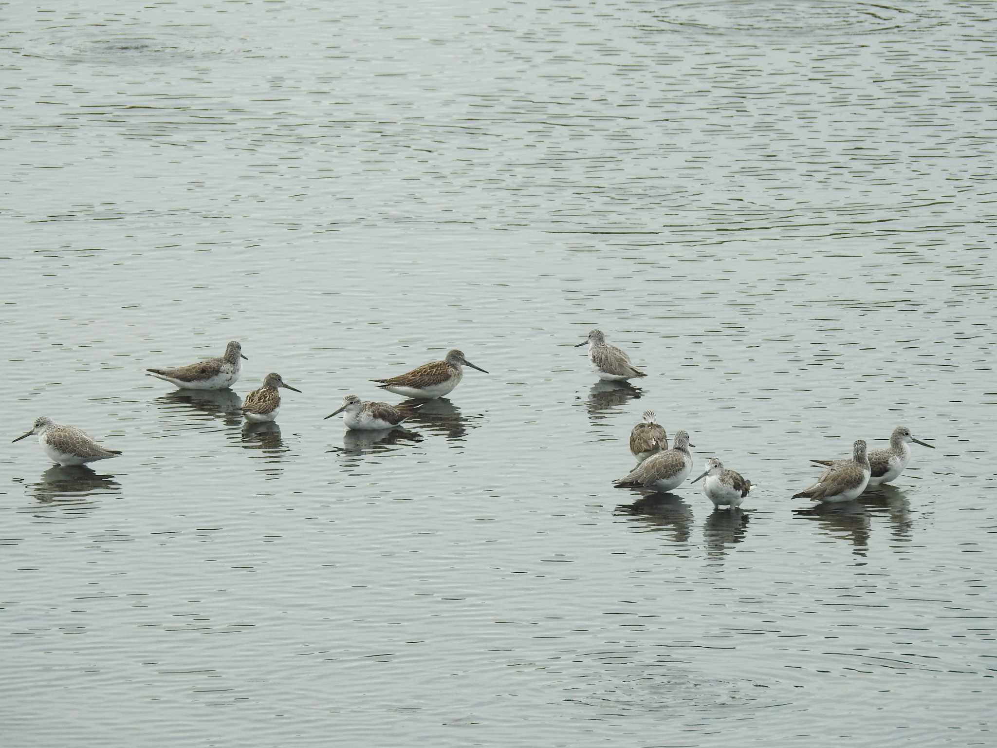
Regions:
M 608 344 L 600 330 L 592 330 L 575 347 L 586 344 L 588 358 L 599 379 L 626 382 L 647 376 L 630 362 L 630 357 L 624 351 Z M 242 346 L 233 340 L 226 346 L 224 355 L 218 358 L 174 369 L 147 371 L 180 389 L 221 390 L 231 387 L 239 378 L 241 362 L 245 358 Z M 343 423 L 348 429 L 394 429 L 414 415 L 422 405 L 420 401 L 435 400 L 450 394 L 461 383 L 465 366 L 488 373 L 455 349 L 449 351 L 442 361 L 432 361 L 388 379 L 372 380 L 381 389 L 410 398 L 414 402 L 396 407 L 347 395 L 343 398 L 342 407 L 326 418 L 342 413 Z M 301 392 L 284 382 L 279 374 L 267 374 L 263 378 L 263 386 L 250 392 L 242 401 L 241 410 L 245 419 L 257 423 L 273 421 L 280 410 L 279 390 L 282 387 Z M 118 450 L 102 447 L 80 429 L 54 423 L 46 416 L 35 419 L 31 431 L 14 441 L 18 442 L 32 435 L 38 436 L 38 443 L 45 454 L 63 466 L 84 465 L 122 454 Z M 823 503 L 851 501 L 866 488 L 888 483 L 899 476 L 910 462 L 911 443 L 934 449 L 932 445 L 915 439 L 904 426 L 893 429 L 887 449 L 868 451 L 865 442 L 858 439 L 853 445 L 850 459 L 814 460 L 825 466 L 824 472 L 817 483 L 793 498 L 808 498 Z M 689 434 L 679 431 L 669 448 L 664 427 L 657 423 L 652 411 L 645 411 L 643 420 L 630 433 L 630 452 L 637 459 L 637 466 L 613 484 L 617 487 L 654 489 L 661 493 L 672 491 L 682 485 L 692 472 L 693 458 L 689 448 L 693 446 L 695 445 L 689 443 Z M 740 507 L 754 488 L 740 473 L 724 468 L 724 464 L 717 458 L 707 460 L 706 470 L 693 483 L 704 478 L 703 493 L 718 508 Z

